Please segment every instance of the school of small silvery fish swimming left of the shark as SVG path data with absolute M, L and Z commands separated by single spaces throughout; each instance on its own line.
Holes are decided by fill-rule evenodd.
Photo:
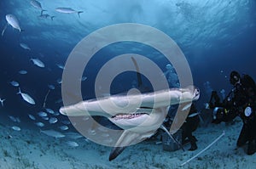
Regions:
M 55 17 L 61 17 L 61 14 L 78 14 L 79 18 L 81 17 L 81 14 L 84 13 L 82 10 L 76 10 L 70 7 L 55 7 L 55 9 L 52 11 L 55 12 L 54 15 L 49 14 L 49 9 L 44 8 L 44 6 L 39 2 L 38 0 L 31 0 L 29 1 L 29 4 L 31 5 L 31 10 L 38 11 L 38 20 L 49 20 L 49 22 L 53 21 L 55 22 Z M 61 14 L 59 14 L 61 13 Z M 6 24 L 3 26 L 2 30 L 2 37 L 8 37 L 9 28 L 13 28 L 12 33 L 20 33 L 22 36 L 23 34 L 29 33 L 24 29 L 24 20 L 20 20 L 18 15 L 15 14 L 5 14 L 5 20 Z M 22 50 L 26 54 L 29 55 L 29 60 L 30 64 L 34 67 L 34 69 L 41 68 L 41 70 L 49 70 L 48 65 L 44 64 L 44 54 L 39 53 L 38 56 L 34 56 L 34 48 L 32 46 L 31 42 L 26 42 L 25 41 L 20 41 L 18 42 L 20 50 Z M 65 67 L 61 63 L 55 64 L 56 67 L 58 67 L 61 70 L 64 70 Z M 26 76 L 29 76 L 32 72 L 27 71 L 28 69 L 20 69 L 16 72 L 16 75 L 19 75 L 20 78 L 24 78 Z M 26 75 L 28 74 L 28 75 Z M 80 82 L 84 82 L 87 79 L 87 76 L 82 76 L 80 79 L 78 79 Z M 56 83 L 61 84 L 61 78 L 55 80 Z M 10 79 L 8 82 L 10 87 L 14 88 L 15 93 L 17 94 L 18 99 L 20 99 L 20 104 L 25 104 L 28 108 L 31 106 L 38 105 L 39 99 L 35 97 L 36 93 L 35 91 L 26 88 L 26 86 L 23 84 L 23 82 L 17 78 L 17 79 Z M 68 132 L 70 131 L 70 126 L 71 122 L 69 120 L 61 120 L 63 118 L 59 118 L 58 115 L 60 113 L 58 111 L 52 110 L 48 108 L 45 103 L 47 101 L 48 94 L 51 93 L 50 91 L 54 91 L 57 85 L 55 86 L 54 82 L 52 84 L 48 84 L 49 91 L 46 94 L 46 97 L 44 99 L 44 106 L 42 107 L 42 110 L 39 110 L 38 112 L 29 112 L 27 113 L 26 117 L 35 127 L 38 127 L 40 129 L 40 132 L 44 134 L 46 137 L 53 137 L 53 138 L 66 138 L 66 144 L 67 146 L 71 148 L 78 147 L 79 144 L 76 143 L 73 140 L 68 140 L 68 139 L 78 139 L 78 138 L 83 138 L 82 135 L 80 135 L 78 132 Z M 1 96 L 0 98 L 0 109 L 5 108 L 5 106 L 8 106 L 10 99 L 5 96 Z M 7 102 L 7 104 L 6 104 Z M 61 104 L 62 99 L 57 99 L 55 104 Z M 46 106 L 46 107 L 45 107 Z M 2 108 L 1 108 L 2 107 Z M 23 121 L 22 118 L 16 116 L 16 115 L 8 115 L 9 116 L 9 121 L 10 121 L 10 129 L 13 130 L 14 132 L 20 132 L 22 128 L 22 122 L 20 119 Z M 67 118 L 67 117 L 65 117 Z M 64 118 L 64 119 L 65 119 Z M 56 128 L 56 130 L 52 129 L 53 127 Z M 49 129 L 50 128 L 50 129 Z

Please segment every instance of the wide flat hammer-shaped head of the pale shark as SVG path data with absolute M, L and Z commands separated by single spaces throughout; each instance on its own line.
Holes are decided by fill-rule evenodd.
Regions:
M 118 115 L 134 114 L 137 111 L 138 113 L 140 113 L 140 111 L 144 111 L 144 113 L 147 113 L 151 112 L 151 109 L 154 108 L 188 103 L 193 100 L 199 99 L 199 96 L 199 89 L 194 86 L 184 88 L 171 88 L 152 93 L 140 93 L 139 96 L 112 95 L 100 99 L 85 100 L 79 102 L 78 104 L 61 107 L 60 112 L 62 115 L 68 116 L 101 115 L 108 118 L 119 118 L 120 116 Z M 136 100 L 139 100 L 141 103 L 137 104 L 137 102 L 134 101 L 134 98 Z M 130 102 L 129 109 L 126 109 L 126 107 L 124 106 L 125 104 L 127 104 L 127 100 L 128 102 Z M 120 106 L 113 106 L 113 104 L 117 104 Z M 139 117 L 139 115 L 133 115 L 133 117 Z

